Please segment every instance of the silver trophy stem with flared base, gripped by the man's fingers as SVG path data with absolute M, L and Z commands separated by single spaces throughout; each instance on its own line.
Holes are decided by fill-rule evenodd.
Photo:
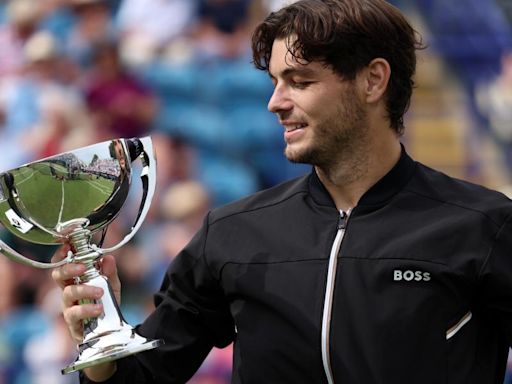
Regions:
M 70 243 L 75 250 L 73 261 L 87 266 L 86 272 L 76 278 L 75 282 L 103 289 L 101 299 L 80 302 L 103 304 L 103 314 L 83 321 L 84 338 L 78 346 L 79 355 L 72 364 L 62 370 L 63 374 L 114 361 L 163 344 L 163 340 L 151 340 L 140 336 L 124 320 L 107 278 L 102 276 L 95 266 L 100 252 L 90 245 L 90 237 L 90 231 L 85 228 L 76 228 L 69 235 Z

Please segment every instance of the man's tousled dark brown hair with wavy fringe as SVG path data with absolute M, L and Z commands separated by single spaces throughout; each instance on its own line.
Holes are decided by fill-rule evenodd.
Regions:
M 321 61 L 352 80 L 375 58 L 391 67 L 386 109 L 391 127 L 403 134 L 420 35 L 384 0 L 301 0 L 260 23 L 252 37 L 256 68 L 268 71 L 275 39 L 290 38 L 288 50 L 303 62 Z

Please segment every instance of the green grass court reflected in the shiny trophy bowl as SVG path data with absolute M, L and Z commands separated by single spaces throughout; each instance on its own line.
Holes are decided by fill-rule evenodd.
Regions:
M 70 173 L 55 163 L 31 164 L 11 173 L 27 211 L 40 225 L 51 229 L 59 222 L 89 216 L 108 200 L 115 184 L 88 173 Z M 4 201 L 0 206 L 7 204 Z

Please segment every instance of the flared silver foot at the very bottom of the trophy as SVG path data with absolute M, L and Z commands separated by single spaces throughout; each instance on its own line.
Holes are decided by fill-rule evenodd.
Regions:
M 126 332 L 124 333 L 126 338 Z M 163 340 L 149 340 L 135 333 L 131 329 L 127 340 L 120 342 L 119 332 L 92 339 L 80 345 L 80 354 L 77 359 L 61 370 L 63 375 L 80 371 L 94 365 L 118 360 L 138 352 L 154 349 L 162 344 Z

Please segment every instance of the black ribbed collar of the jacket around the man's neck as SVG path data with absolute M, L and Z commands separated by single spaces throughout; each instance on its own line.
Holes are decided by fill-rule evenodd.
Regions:
M 400 192 L 412 176 L 416 163 L 405 151 L 403 145 L 400 159 L 391 170 L 364 193 L 358 207 L 379 206 Z M 313 200 L 320 205 L 334 206 L 331 195 L 324 187 L 314 168 L 309 177 L 309 190 Z

